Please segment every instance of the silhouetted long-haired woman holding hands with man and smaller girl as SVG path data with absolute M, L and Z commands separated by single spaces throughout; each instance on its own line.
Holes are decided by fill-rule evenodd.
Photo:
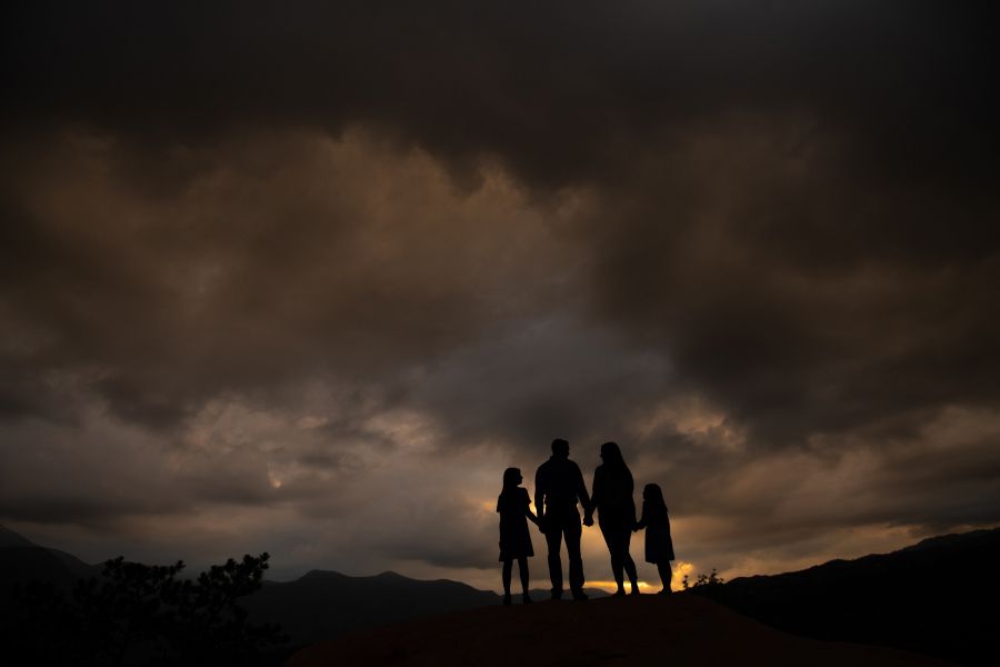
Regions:
M 611 571 L 614 574 L 614 583 L 618 584 L 618 591 L 614 595 L 624 595 L 622 570 L 629 575 L 632 595 L 639 595 L 636 564 L 629 556 L 629 542 L 632 539 L 632 528 L 636 526 L 632 474 L 614 442 L 601 445 L 601 459 L 604 462 L 593 471 L 590 512 L 597 510 L 601 535 L 604 536 L 604 542 L 611 552 Z M 588 521 L 592 521 L 589 516 Z

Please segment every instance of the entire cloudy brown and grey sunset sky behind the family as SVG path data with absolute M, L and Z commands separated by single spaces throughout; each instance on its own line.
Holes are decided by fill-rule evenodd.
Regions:
M 663 488 L 683 573 L 1000 524 L 994 3 L 0 12 L 34 541 L 496 589 L 557 437 Z

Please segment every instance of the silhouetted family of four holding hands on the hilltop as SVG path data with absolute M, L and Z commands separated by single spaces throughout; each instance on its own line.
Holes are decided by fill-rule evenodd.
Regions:
M 580 556 L 582 526 L 593 526 L 593 514 L 608 551 L 611 571 L 618 584 L 614 595 L 624 595 L 624 575 L 629 576 L 632 595 L 639 595 L 636 563 L 629 555 L 632 532 L 646 529 L 646 561 L 656 564 L 663 584 L 661 593 L 670 593 L 670 561 L 673 560 L 673 542 L 670 538 L 670 519 L 663 492 L 656 484 L 642 490 L 642 516 L 636 520 L 636 502 L 632 500 L 634 481 L 632 472 L 616 442 L 601 445 L 601 465 L 593 471 L 593 495 L 587 492 L 580 467 L 569 458 L 569 442 L 562 438 L 552 440 L 552 456 L 539 466 L 534 475 L 534 507 L 531 497 L 521 487 L 523 478 L 519 468 L 503 471 L 503 490 L 497 499 L 500 512 L 500 560 L 503 563 L 503 604 L 510 604 L 510 577 L 513 561 L 518 561 L 524 603 L 528 595 L 528 558 L 534 556 L 528 521 L 536 524 L 546 536 L 549 551 L 549 577 L 552 580 L 552 599 L 562 598 L 563 540 L 569 557 L 569 585 L 574 600 L 586 600 L 583 593 L 583 559 Z M 577 504 L 583 507 L 583 518 Z

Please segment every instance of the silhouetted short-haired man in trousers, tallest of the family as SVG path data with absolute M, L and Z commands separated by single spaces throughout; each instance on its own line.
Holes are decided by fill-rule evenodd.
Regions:
M 552 440 L 552 456 L 538 467 L 534 475 L 534 509 L 549 545 L 549 577 L 552 579 L 552 599 L 562 597 L 562 558 L 559 547 L 566 538 L 566 552 L 570 561 L 570 590 L 574 600 L 586 600 L 583 593 L 583 559 L 580 558 L 580 512 L 590 509 L 590 496 L 583 484 L 580 467 L 569 460 L 569 442 L 562 438 Z

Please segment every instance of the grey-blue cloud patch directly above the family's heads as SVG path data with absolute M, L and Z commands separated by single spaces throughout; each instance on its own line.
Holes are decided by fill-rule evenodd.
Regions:
M 637 406 L 669 395 L 670 379 L 661 356 L 613 329 L 553 316 L 453 351 L 411 380 L 409 402 L 441 417 L 449 447 L 489 441 L 539 462 L 556 435 L 582 448 L 620 432 Z

